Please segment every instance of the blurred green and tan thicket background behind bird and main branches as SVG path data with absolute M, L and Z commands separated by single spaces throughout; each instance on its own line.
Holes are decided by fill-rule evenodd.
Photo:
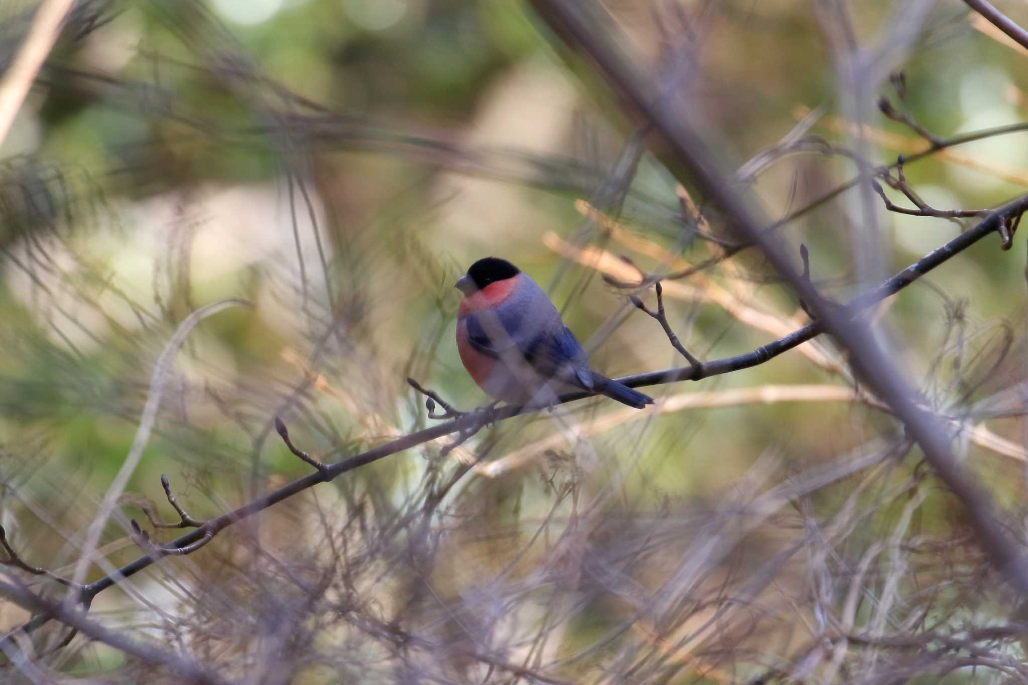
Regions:
M 926 147 L 877 99 L 944 139 L 1021 123 L 1028 107 L 1025 50 L 956 0 L 931 3 L 907 49 L 875 52 L 912 4 L 596 6 L 646 73 L 702 115 L 740 188 L 791 218 L 779 235 L 807 245 L 814 282 L 842 301 L 975 223 L 880 203 L 869 217 L 855 190 L 821 199 L 857 170 L 832 150 L 877 165 Z M 996 4 L 1028 22 L 1024 3 Z M 0 65 L 34 10 L 0 4 Z M 905 92 L 883 79 L 857 104 L 871 112 L 862 129 L 838 68 L 838 11 L 859 49 L 906 78 Z M 800 140 L 809 145 L 779 154 Z M 528 272 L 610 376 L 684 364 L 628 302 L 637 292 L 654 306 L 652 289 L 610 277 L 712 262 L 664 291 L 701 359 L 802 326 L 756 250 L 719 259 L 737 238 L 652 142 L 522 2 L 77 3 L 0 145 L 0 523 L 11 544 L 72 574 L 158 354 L 219 300 L 249 305 L 198 322 L 175 355 L 87 579 L 140 555 L 131 519 L 151 531 L 147 507 L 175 519 L 161 473 L 203 519 L 308 472 L 274 434 L 277 415 L 301 449 L 336 460 L 432 423 L 407 377 L 457 408 L 484 404 L 453 344 L 452 283 L 480 257 Z M 1012 132 L 906 173 L 932 206 L 992 207 L 1028 192 L 1025 159 L 1028 135 Z M 1019 539 L 1023 233 L 1009 252 L 989 236 L 874 317 Z M 932 659 L 938 646 L 916 658 L 838 648 L 849 634 L 1006 622 L 1017 605 L 902 426 L 859 389 L 819 339 L 755 369 L 652 387 L 653 412 L 592 399 L 448 453 L 451 439 L 423 445 L 161 562 L 89 615 L 238 682 L 853 682 L 908 657 L 923 665 L 913 675 L 946 682 L 1024 677 L 1006 662 L 932 672 L 952 656 Z M 888 459 L 846 471 L 876 454 Z M 803 485 L 839 464 L 846 472 L 823 487 Z M 5 631 L 27 616 L 0 604 Z M 81 637 L 50 651 L 64 637 L 34 638 L 51 677 L 175 682 Z M 1024 656 L 1014 638 L 990 648 Z

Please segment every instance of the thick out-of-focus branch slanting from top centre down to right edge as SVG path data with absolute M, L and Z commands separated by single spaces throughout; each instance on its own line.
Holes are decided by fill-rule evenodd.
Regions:
M 710 148 L 711 131 L 694 126 L 690 112 L 670 107 L 667 99 L 657 97 L 657 89 L 649 85 L 650 79 L 619 49 L 630 41 L 618 35 L 612 23 L 604 21 L 608 17 L 597 17 L 591 5 L 586 7 L 568 0 L 534 0 L 533 4 L 558 35 L 588 53 L 615 87 L 653 123 L 682 165 L 672 173 L 688 169 L 691 181 L 725 213 L 735 232 L 761 248 L 768 262 L 809 304 L 825 332 L 849 350 L 857 373 L 895 412 L 908 434 L 921 447 L 925 460 L 964 505 L 992 563 L 1020 593 L 1028 594 L 1028 564 L 1022 545 L 996 521 L 987 493 L 953 459 L 945 426 L 915 402 L 913 390 L 902 372 L 879 348 L 868 322 L 829 306 L 816 297 L 810 283 L 796 273 L 784 246 L 768 235 L 763 213 L 737 191 L 731 174 L 722 168 Z M 1024 198 L 1017 201 L 1016 214 L 1022 214 L 1028 206 L 1024 202 Z M 986 221 L 994 222 L 994 228 L 998 228 L 1001 217 L 1000 213 L 994 213 Z

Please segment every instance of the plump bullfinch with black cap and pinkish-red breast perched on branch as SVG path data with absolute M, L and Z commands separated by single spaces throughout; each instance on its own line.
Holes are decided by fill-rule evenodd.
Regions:
M 455 287 L 456 348 L 486 394 L 519 405 L 552 405 L 588 390 L 642 409 L 653 399 L 589 369 L 585 350 L 546 293 L 507 260 L 480 259 Z

